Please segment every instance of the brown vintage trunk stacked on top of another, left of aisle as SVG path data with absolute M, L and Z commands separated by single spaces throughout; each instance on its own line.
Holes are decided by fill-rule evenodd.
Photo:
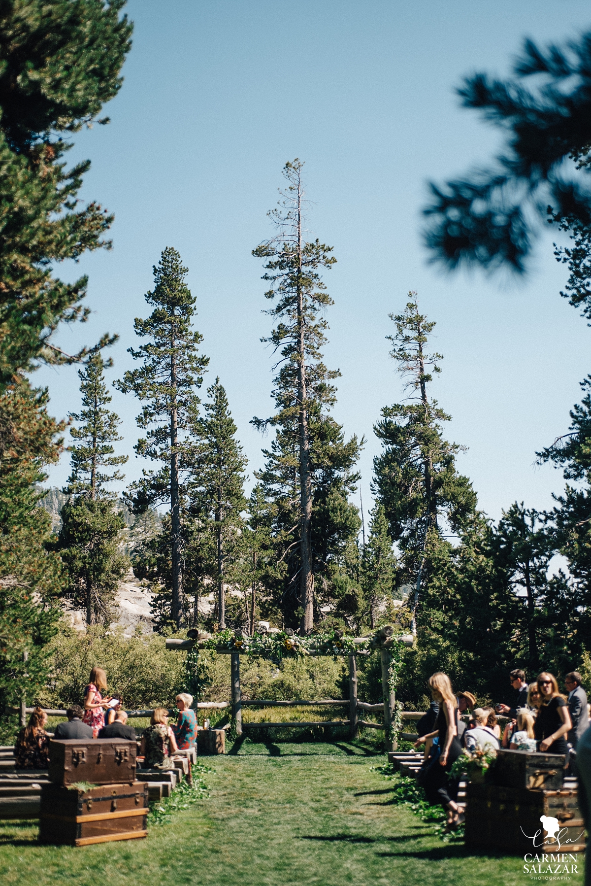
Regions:
M 136 780 L 136 742 L 119 738 L 50 742 L 50 781 L 64 787 L 76 781 L 123 784 Z

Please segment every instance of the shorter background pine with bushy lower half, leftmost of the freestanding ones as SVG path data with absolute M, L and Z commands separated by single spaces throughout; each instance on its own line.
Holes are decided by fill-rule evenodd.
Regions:
M 119 416 L 107 408 L 113 399 L 107 391 L 105 362 L 100 354 L 89 359 L 78 372 L 81 379 L 82 411 L 70 413 L 79 423 L 70 430 L 72 473 L 64 492 L 68 501 L 62 508 L 62 525 L 56 549 L 69 575 L 67 595 L 74 605 L 86 610 L 86 623 L 106 624 L 110 605 L 128 560 L 120 551 L 125 520 L 116 508 L 114 494 L 105 487 L 122 480 L 117 468 L 127 455 L 114 455 L 113 443 L 121 440 Z

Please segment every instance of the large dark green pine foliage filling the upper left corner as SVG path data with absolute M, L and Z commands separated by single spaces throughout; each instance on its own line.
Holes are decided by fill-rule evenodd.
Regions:
M 84 320 L 88 278 L 66 284 L 58 261 L 107 247 L 113 221 L 77 194 L 89 161 L 66 170 L 65 133 L 89 126 L 121 88 L 131 26 L 124 0 L 27 0 L 0 10 L 0 385 L 37 362 L 72 362 L 51 344 L 60 323 Z M 98 120 L 105 123 L 105 120 Z M 97 347 L 113 338 L 104 336 Z

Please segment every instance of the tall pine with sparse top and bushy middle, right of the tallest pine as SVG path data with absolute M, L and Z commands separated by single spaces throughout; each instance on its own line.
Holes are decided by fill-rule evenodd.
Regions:
M 384 452 L 374 459 L 372 488 L 384 506 L 407 578 L 416 581 L 416 612 L 421 583 L 442 529 L 460 530 L 476 509 L 477 499 L 470 480 L 455 469 L 455 455 L 464 447 L 448 443 L 442 435 L 441 423 L 450 416 L 427 395 L 432 372 L 439 373 L 442 359 L 424 349 L 435 323 L 419 314 L 416 292 L 408 295 L 411 300 L 404 313 L 390 315 L 396 332 L 387 338 L 393 342 L 391 356 L 399 364 L 400 375 L 408 378 L 409 399 L 416 402 L 382 409 L 382 420 L 374 431 Z

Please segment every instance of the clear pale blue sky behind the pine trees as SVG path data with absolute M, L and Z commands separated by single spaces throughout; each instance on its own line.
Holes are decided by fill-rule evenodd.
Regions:
M 198 299 L 206 385 L 221 377 L 252 477 L 263 441 L 249 422 L 271 412 L 272 356 L 260 342 L 270 318 L 251 250 L 271 232 L 266 213 L 284 162 L 299 157 L 310 235 L 338 259 L 326 275 L 335 305 L 325 357 L 342 372 L 335 416 L 347 434 L 367 438 L 364 505 L 379 449 L 372 424 L 403 395 L 388 314 L 416 290 L 445 358 L 432 394 L 453 416 L 447 436 L 469 447 L 458 463 L 480 507 L 495 518 L 515 500 L 548 507 L 564 481 L 534 467 L 535 451 L 566 430 L 591 371 L 591 330 L 558 294 L 566 270 L 553 237 L 540 237 L 525 279 L 447 276 L 424 251 L 421 208 L 428 180 L 486 163 L 500 144 L 459 107 L 463 75 L 508 74 L 525 36 L 579 35 L 591 25 L 588 3 L 131 0 L 127 9 L 136 27 L 125 82 L 105 108 L 112 122 L 80 133 L 68 155 L 92 161 L 82 198 L 114 212 L 113 251 L 59 269 L 89 274 L 93 310 L 59 344 L 118 332 L 108 378 L 120 377 L 132 363 L 134 317 L 148 313 L 152 265 L 175 246 Z M 54 415 L 79 408 L 76 369 L 44 368 L 34 380 L 49 386 Z M 145 466 L 133 453 L 139 404 L 113 391 L 112 406 L 131 480 Z M 67 474 L 65 455 L 48 483 L 61 486 Z

